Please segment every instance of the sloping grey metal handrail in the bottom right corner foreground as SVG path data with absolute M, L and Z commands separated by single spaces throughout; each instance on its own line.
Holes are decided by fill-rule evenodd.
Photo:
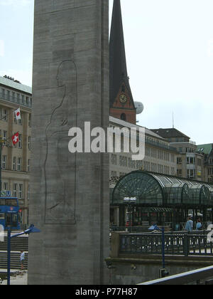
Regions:
M 196 282 L 197 285 L 204 284 L 204 285 L 212 285 L 213 280 L 207 278 L 213 277 L 213 266 L 200 268 L 197 270 L 180 273 L 174 276 L 168 276 L 165 278 L 160 278 L 156 280 L 151 280 L 146 283 L 138 283 L 138 285 L 186 285 L 189 283 Z M 201 281 L 204 280 L 204 283 Z

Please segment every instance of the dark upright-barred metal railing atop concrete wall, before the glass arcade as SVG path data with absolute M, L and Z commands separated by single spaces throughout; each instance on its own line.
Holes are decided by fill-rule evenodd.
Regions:
M 208 239 L 209 231 L 195 231 L 190 234 L 165 233 L 165 255 L 213 256 L 213 242 Z M 162 234 L 120 234 L 120 254 L 162 254 Z

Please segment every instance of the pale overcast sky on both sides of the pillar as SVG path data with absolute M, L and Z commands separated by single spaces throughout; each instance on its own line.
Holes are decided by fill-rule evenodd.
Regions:
M 31 85 L 33 0 L 0 0 L 0 75 Z M 109 0 L 111 16 L 113 0 Z M 121 0 L 139 125 L 213 142 L 213 1 Z

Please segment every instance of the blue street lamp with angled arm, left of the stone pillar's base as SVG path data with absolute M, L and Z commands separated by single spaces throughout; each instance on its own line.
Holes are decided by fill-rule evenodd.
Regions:
M 16 238 L 21 235 L 28 235 L 31 233 L 40 233 L 40 229 L 37 229 L 33 224 L 26 230 L 18 234 L 11 236 L 11 226 L 7 231 L 7 284 L 11 284 L 11 238 Z

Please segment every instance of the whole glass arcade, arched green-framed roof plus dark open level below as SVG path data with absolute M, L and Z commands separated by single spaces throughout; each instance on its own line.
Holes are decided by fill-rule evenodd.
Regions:
M 126 204 L 126 198 L 134 198 Z M 212 221 L 213 186 L 204 182 L 182 179 L 138 170 L 119 179 L 111 195 L 111 208 L 119 209 L 119 225 L 183 226 L 190 214 L 196 220 L 202 217 Z M 126 211 L 131 219 L 126 223 Z

